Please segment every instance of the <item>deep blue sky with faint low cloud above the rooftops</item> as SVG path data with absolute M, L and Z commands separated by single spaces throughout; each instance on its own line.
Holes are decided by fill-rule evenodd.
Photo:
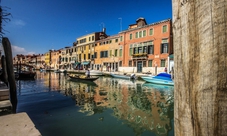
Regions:
M 172 18 L 171 0 L 0 0 L 12 16 L 3 22 L 13 54 L 43 54 L 72 46 L 76 38 L 128 29 L 144 17 L 148 24 Z M 120 19 L 121 18 L 121 19 Z

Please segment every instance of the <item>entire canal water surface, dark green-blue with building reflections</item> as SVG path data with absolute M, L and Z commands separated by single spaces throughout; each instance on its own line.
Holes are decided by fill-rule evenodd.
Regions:
M 100 76 L 95 82 L 37 72 L 17 81 L 17 112 L 42 136 L 173 136 L 173 87 Z

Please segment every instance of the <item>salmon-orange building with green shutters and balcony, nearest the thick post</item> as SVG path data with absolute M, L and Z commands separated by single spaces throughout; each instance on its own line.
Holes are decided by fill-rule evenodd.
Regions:
M 144 18 L 119 33 L 119 71 L 164 72 L 173 53 L 171 20 L 147 24 Z

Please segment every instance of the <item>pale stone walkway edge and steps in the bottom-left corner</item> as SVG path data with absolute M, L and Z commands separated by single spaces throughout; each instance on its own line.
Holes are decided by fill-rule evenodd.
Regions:
M 27 113 L 11 113 L 9 88 L 0 83 L 0 136 L 41 136 Z

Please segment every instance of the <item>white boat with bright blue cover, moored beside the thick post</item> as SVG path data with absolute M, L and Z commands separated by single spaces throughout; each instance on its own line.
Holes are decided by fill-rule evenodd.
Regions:
M 153 84 L 174 85 L 171 75 L 167 73 L 160 73 L 157 76 L 142 76 L 143 80 Z

